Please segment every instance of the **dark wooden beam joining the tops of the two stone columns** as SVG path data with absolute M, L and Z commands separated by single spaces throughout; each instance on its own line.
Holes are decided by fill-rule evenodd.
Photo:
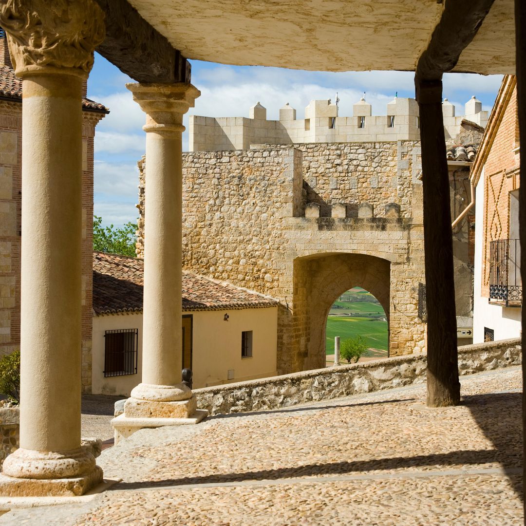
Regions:
M 98 53 L 137 82 L 190 82 L 188 60 L 126 0 L 95 1 L 106 23 L 106 38 Z

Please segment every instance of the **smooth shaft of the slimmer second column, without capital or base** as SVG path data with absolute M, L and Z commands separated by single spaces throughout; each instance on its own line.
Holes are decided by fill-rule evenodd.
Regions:
M 181 381 L 181 153 L 181 131 L 146 134 L 143 382 L 151 385 Z

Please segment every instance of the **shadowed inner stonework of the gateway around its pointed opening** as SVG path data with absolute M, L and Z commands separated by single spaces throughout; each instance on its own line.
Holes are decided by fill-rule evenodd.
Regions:
M 294 260 L 294 333 L 303 369 L 325 367 L 327 315 L 346 290 L 368 290 L 389 323 L 390 267 L 388 260 L 365 254 L 324 253 Z

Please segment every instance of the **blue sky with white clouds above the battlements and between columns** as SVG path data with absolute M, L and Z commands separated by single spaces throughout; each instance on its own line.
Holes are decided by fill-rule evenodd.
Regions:
M 372 104 L 373 115 L 386 115 L 386 105 L 398 92 L 399 97 L 414 97 L 411 72 L 326 73 L 279 69 L 262 66 L 226 66 L 192 62 L 192 84 L 201 90 L 195 108 L 185 116 L 248 117 L 250 106 L 260 102 L 267 118 L 277 119 L 279 108 L 287 102 L 304 118 L 312 99 L 340 98 L 339 114 L 352 115 L 352 105 L 363 92 Z M 463 115 L 463 105 L 472 95 L 490 110 L 497 95 L 500 75 L 444 75 L 444 97 Z M 94 208 L 105 225 L 121 226 L 136 221 L 137 160 L 144 154 L 145 116 L 133 102 L 125 84 L 132 82 L 113 64 L 95 54 L 95 65 L 88 80 L 88 97 L 110 109 L 95 133 Z M 188 133 L 183 134 L 183 149 L 188 149 Z

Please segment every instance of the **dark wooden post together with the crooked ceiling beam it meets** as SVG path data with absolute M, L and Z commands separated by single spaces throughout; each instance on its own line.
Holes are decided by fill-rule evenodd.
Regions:
M 424 258 L 427 299 L 427 405 L 460 402 L 453 239 L 442 74 L 451 70 L 482 25 L 493 0 L 446 2 L 414 76 L 422 146 Z

